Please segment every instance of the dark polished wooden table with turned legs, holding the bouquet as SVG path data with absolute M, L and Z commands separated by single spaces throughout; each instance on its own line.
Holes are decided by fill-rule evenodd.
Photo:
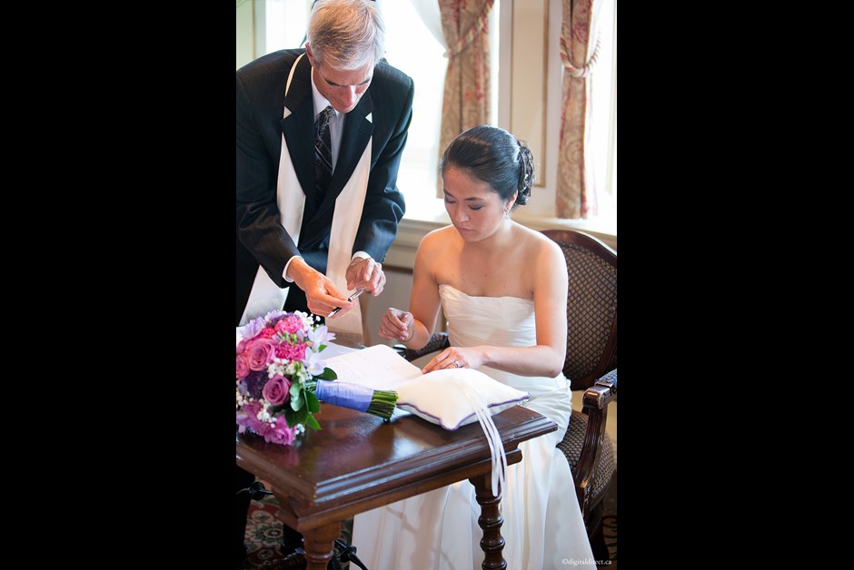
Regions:
M 273 486 L 279 519 L 303 534 L 307 570 L 325 570 L 343 521 L 466 478 L 481 505 L 482 568 L 506 568 L 501 495 L 492 496 L 490 450 L 478 422 L 448 431 L 400 410 L 383 422 L 329 404 L 315 418 L 323 429 L 307 430 L 291 447 L 237 435 L 237 465 Z M 509 465 L 521 461 L 521 441 L 557 429 L 521 406 L 492 420 Z

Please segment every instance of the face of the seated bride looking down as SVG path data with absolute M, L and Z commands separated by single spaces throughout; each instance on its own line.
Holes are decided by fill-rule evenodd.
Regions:
M 501 227 L 506 206 L 489 184 L 453 167 L 445 170 L 442 182 L 445 210 L 463 240 L 481 241 Z

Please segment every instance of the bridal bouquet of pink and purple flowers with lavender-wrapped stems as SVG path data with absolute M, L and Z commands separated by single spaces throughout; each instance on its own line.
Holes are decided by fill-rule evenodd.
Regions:
M 305 426 L 320 429 L 320 402 L 388 419 L 397 393 L 334 381 L 320 353 L 335 338 L 302 311 L 273 310 L 237 330 L 237 424 L 270 443 L 289 446 Z

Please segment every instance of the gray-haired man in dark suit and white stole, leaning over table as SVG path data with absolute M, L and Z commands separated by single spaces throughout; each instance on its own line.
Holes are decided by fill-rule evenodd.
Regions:
M 363 287 L 376 296 L 385 285 L 382 260 L 404 211 L 397 172 L 414 85 L 380 61 L 384 25 L 372 2 L 318 0 L 306 36 L 304 50 L 237 71 L 236 320 L 273 308 L 327 316 L 341 307 L 326 324 L 361 332 L 358 300 L 347 295 Z M 324 159 L 327 143 L 316 140 L 329 114 Z M 253 482 L 237 473 L 238 490 Z M 237 497 L 240 557 L 249 497 Z M 286 547 L 299 545 L 299 535 L 285 534 Z

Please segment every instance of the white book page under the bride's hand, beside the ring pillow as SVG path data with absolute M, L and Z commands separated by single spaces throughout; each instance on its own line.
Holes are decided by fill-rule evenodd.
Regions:
M 422 376 L 421 369 L 384 344 L 353 350 L 325 361 L 339 380 L 375 390 L 393 390 L 407 380 Z

